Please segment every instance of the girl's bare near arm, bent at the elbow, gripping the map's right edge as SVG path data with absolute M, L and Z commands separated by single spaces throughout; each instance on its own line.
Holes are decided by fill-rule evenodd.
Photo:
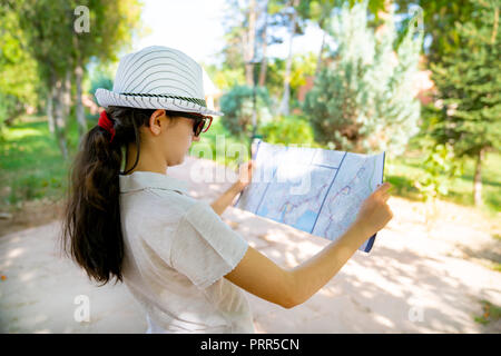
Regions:
M 284 308 L 299 305 L 328 280 L 372 235 L 393 217 L 386 205 L 389 184 L 374 191 L 362 205 L 357 219 L 337 240 L 294 268 L 282 268 L 253 247 L 225 276 L 248 293 Z

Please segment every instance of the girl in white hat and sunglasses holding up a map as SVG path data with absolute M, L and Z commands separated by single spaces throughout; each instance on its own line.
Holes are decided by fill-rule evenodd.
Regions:
M 212 205 L 189 197 L 187 184 L 168 174 L 208 129 L 208 115 L 223 115 L 206 108 L 202 78 L 200 66 L 175 49 L 124 57 L 114 90 L 96 91 L 106 110 L 71 169 L 63 248 L 90 279 L 124 281 L 148 333 L 254 333 L 242 289 L 293 308 L 392 218 L 384 184 L 340 239 L 295 268 L 248 246 L 219 216 L 249 182 L 252 162 Z

